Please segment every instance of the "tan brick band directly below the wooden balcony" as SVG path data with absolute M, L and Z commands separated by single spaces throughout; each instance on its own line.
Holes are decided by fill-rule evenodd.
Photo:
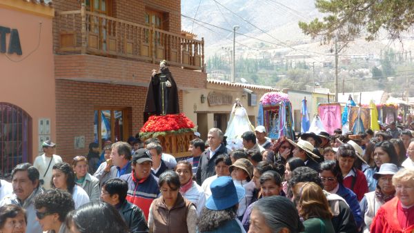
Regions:
M 132 85 L 148 85 L 152 70 L 158 64 L 99 57 L 94 55 L 55 55 L 56 79 L 119 81 Z M 170 67 L 179 89 L 205 88 L 206 73 Z

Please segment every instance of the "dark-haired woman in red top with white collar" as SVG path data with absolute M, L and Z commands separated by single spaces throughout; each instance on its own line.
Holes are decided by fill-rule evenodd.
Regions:
M 355 168 L 355 161 L 362 158 L 357 156 L 351 144 L 345 143 L 339 146 L 337 159 L 342 176 L 344 176 L 342 184 L 352 190 L 357 195 L 358 201 L 361 201 L 364 194 L 368 192 L 368 183 L 364 172 Z

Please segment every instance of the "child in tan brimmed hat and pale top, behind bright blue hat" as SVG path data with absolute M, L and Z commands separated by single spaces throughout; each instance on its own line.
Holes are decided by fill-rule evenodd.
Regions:
M 253 169 L 253 164 L 248 159 L 238 159 L 229 168 L 235 185 L 240 185 L 246 190 L 246 196 L 239 201 L 239 209 L 237 210 L 237 217 L 240 221 L 243 219 L 243 214 L 253 198 L 253 191 L 255 190 L 255 183 L 252 181 Z

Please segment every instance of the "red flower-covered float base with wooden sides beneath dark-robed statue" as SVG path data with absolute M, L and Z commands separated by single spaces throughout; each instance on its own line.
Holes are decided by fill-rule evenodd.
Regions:
M 183 113 L 151 116 L 139 132 L 142 140 L 159 139 L 163 152 L 176 158 L 188 156 L 196 127 Z

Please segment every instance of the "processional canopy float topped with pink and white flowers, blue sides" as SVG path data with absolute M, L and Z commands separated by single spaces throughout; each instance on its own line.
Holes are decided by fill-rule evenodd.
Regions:
M 288 94 L 267 92 L 260 99 L 257 124 L 264 125 L 268 137 L 279 139 L 280 136 L 295 138 L 293 132 L 293 110 Z

